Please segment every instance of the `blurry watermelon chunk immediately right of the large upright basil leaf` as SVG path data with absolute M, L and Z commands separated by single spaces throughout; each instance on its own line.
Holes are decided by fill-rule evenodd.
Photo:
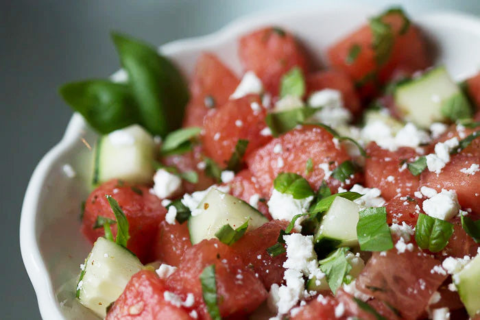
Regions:
M 223 106 L 239 84 L 237 76 L 212 53 L 202 53 L 195 66 L 191 81 L 191 99 L 185 110 L 184 127 L 201 127 L 213 103 L 213 108 Z M 206 103 L 207 102 L 207 103 Z

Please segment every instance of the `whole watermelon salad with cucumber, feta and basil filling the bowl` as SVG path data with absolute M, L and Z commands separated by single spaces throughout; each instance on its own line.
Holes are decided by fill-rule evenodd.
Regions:
M 106 319 L 480 319 L 480 73 L 399 8 L 314 55 L 287 29 L 188 82 L 112 34 L 125 77 L 60 88 L 99 133 L 80 304 Z M 475 71 L 472 71 L 475 73 Z

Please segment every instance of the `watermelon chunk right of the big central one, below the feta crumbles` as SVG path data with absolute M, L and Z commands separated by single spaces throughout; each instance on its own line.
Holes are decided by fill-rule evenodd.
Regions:
M 369 158 L 365 160 L 365 186 L 379 188 L 385 200 L 397 195 L 411 195 L 418 189 L 420 177 L 414 176 L 403 166 L 405 161 L 415 160 L 415 149 L 399 148 L 397 151 L 381 149 L 376 143 L 367 148 Z

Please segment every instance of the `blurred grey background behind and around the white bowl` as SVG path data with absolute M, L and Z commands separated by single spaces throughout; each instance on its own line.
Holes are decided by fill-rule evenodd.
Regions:
M 0 318 L 40 318 L 19 248 L 23 194 L 36 163 L 60 140 L 72 114 L 59 99 L 58 86 L 76 79 L 106 77 L 118 69 L 110 30 L 161 45 L 208 34 L 249 12 L 327 2 L 334 1 L 0 1 Z M 478 0 L 365 3 L 380 7 L 400 3 L 410 12 L 480 14 Z

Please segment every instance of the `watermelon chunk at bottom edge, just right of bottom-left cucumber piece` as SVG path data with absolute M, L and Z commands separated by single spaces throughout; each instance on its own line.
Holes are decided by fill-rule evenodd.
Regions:
M 166 301 L 165 291 L 165 282 L 154 271 L 139 271 L 130 279 L 105 319 L 193 319 L 187 310 Z

